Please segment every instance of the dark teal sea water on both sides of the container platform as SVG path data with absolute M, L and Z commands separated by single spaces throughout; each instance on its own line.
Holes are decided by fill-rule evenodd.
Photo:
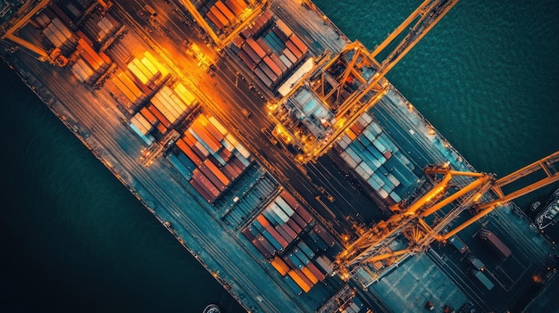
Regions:
M 371 49 L 420 3 L 317 1 Z M 559 150 L 557 21 L 555 1 L 463 0 L 388 78 L 502 177 Z M 0 78 L 0 311 L 242 311 L 4 64 Z

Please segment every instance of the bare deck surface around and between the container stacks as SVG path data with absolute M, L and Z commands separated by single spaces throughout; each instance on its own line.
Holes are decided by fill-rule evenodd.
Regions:
M 326 48 L 337 52 L 348 43 L 339 29 L 324 21 L 321 12 L 311 11 L 295 1 L 271 1 L 271 11 L 296 31 L 314 55 L 321 54 Z M 173 20 L 171 9 L 162 7 L 161 12 L 160 16 Z M 221 119 L 226 128 L 251 150 L 260 161 L 253 165 L 254 171 L 269 172 L 274 184 L 300 195 L 313 217 L 333 235 L 351 229 L 352 222 L 371 223 L 385 218 L 368 194 L 357 185 L 347 185 L 343 169 L 335 165 L 337 161 L 332 160 L 335 156 L 331 153 L 317 164 L 305 165 L 302 171 L 299 165 L 289 162 L 280 149 L 273 148 L 260 129 L 270 127 L 263 111 L 263 98 L 274 95 L 262 86 L 258 93 L 243 84 L 236 86 L 235 72 L 242 69 L 228 60 L 227 55 L 223 56 L 225 60 L 221 60 L 221 55 L 213 53 L 196 34 L 187 32 L 189 39 L 196 41 L 204 52 L 217 60 L 220 70 L 216 78 L 210 78 L 204 70 L 197 69 L 195 61 L 183 54 L 184 46 L 171 45 L 170 37 L 166 37 L 161 29 L 152 25 L 150 31 L 145 31 L 150 28 L 149 23 L 138 21 L 138 16 L 121 13 L 125 14 L 129 23 L 130 31 L 124 42 L 128 43 L 130 52 L 136 54 L 151 46 L 159 55 L 178 56 L 177 65 L 171 69 L 174 75 L 185 78 L 206 110 Z M 183 34 L 181 31 L 175 29 L 170 36 L 179 37 Z M 126 55 L 115 54 L 113 58 L 115 62 L 123 63 Z M 170 58 L 164 61 L 171 62 Z M 54 114 L 155 218 L 162 223 L 170 222 L 171 234 L 244 308 L 253 312 L 315 311 L 343 285 L 338 277 L 333 276 L 328 277 L 324 284 L 316 284 L 310 292 L 293 292 L 263 255 L 246 241 L 238 227 L 223 222 L 223 209 L 216 209 L 205 202 L 165 158 L 154 161 L 148 168 L 138 164 L 140 151 L 146 148 L 146 143 L 130 130 L 129 118 L 110 95 L 84 86 L 69 70 L 37 62 L 26 54 L 14 54 L 9 62 Z M 250 75 L 246 75 L 246 79 L 256 86 L 261 85 L 257 78 Z M 249 107 L 253 112 L 252 118 L 246 119 L 237 110 L 239 107 Z M 444 136 L 431 133 L 429 122 L 409 106 L 395 87 L 370 112 L 413 161 L 414 174 L 418 177 L 425 165 L 445 161 L 450 161 L 455 169 L 473 170 Z M 254 179 L 256 177 L 259 176 L 253 176 Z M 254 179 L 239 182 L 236 190 L 246 190 L 248 185 L 254 184 Z M 320 198 L 315 198 L 323 194 L 319 187 L 326 188 L 336 199 L 335 202 L 322 202 Z M 229 204 L 224 200 L 221 207 Z M 493 255 L 474 237 L 482 225 L 489 227 L 507 243 L 513 251 L 513 258 L 506 263 L 493 259 Z M 520 295 L 526 284 L 534 284 L 532 276 L 545 275 L 542 268 L 546 268 L 547 256 L 553 251 L 551 244 L 514 207 L 496 210 L 459 236 L 486 264 L 496 283 L 490 295 L 482 285 L 474 282 L 462 256 L 452 247 L 433 246 L 430 251 L 407 259 L 380 282 L 371 284 L 368 291 L 359 292 L 365 302 L 363 308 L 413 312 L 426 301 L 436 299 L 439 306 L 444 303 L 453 305 L 455 309 L 471 301 L 483 310 L 504 310 Z M 332 257 L 339 249 L 341 246 L 337 244 L 325 254 Z M 415 292 L 420 285 L 421 292 Z M 414 292 L 409 292 L 412 290 Z

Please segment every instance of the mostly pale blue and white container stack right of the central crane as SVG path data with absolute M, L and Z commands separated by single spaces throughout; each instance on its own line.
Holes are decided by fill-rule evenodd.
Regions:
M 365 112 L 334 148 L 349 168 L 392 205 L 415 183 L 413 165 Z

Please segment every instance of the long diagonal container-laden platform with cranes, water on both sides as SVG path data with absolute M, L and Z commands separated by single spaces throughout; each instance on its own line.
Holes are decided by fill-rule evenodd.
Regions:
M 379 235 L 396 204 L 422 199 L 438 184 L 424 171 L 429 165 L 445 165 L 435 174 L 449 166 L 475 171 L 383 78 L 455 2 L 422 4 L 414 12 L 421 22 L 399 28 L 411 29 L 408 45 L 381 64 L 311 2 L 290 0 L 42 0 L 29 12 L 13 11 L 19 20 L 6 25 L 3 38 L 43 62 L 15 48 L 2 53 L 247 311 L 410 312 L 424 303 L 417 294 L 440 293 L 439 282 L 448 293 L 438 303 L 461 308 L 472 299 L 481 310 L 500 311 L 509 293 L 525 286 L 493 288 L 496 296 L 483 299 L 487 282 L 468 268 L 446 272 L 445 247 L 430 245 L 432 235 L 421 253 L 405 248 L 409 238 L 421 239 L 419 228 L 402 235 L 394 223 L 392 235 Z M 177 27 L 177 19 L 188 27 Z M 508 210 L 495 215 L 485 224 L 518 223 Z M 530 260 L 546 258 L 547 243 L 527 223 L 515 224 L 514 233 L 493 224 L 480 237 L 507 263 L 486 262 L 496 273 L 491 281 L 510 284 L 500 269 L 516 261 L 530 264 L 525 273 L 537 272 L 543 262 Z M 464 229 L 462 238 L 475 228 Z M 356 262 L 340 260 L 340 251 L 365 232 L 361 238 L 391 240 L 363 244 L 391 259 L 363 253 Z M 493 232 L 504 241 L 515 235 L 527 248 L 509 250 Z M 477 244 L 460 248 L 457 237 L 454 244 L 462 256 L 456 262 L 467 251 L 483 259 Z M 429 282 L 395 279 L 427 272 Z M 479 282 L 486 290 L 452 282 Z

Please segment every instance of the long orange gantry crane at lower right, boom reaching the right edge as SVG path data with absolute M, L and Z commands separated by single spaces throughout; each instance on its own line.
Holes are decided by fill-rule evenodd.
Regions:
M 396 213 L 388 220 L 369 229 L 358 228 L 358 238 L 353 243 L 347 243 L 336 259 L 338 274 L 343 279 L 351 278 L 357 268 L 372 277 L 379 276 L 381 271 L 375 272 L 368 265 L 380 262 L 382 264 L 378 263 L 376 268 L 389 266 L 413 253 L 427 250 L 434 241 L 446 243 L 450 237 L 487 216 L 501 204 L 558 181 L 559 152 L 500 179 L 488 173 L 456 171 L 448 165 L 428 167 L 425 173 L 433 182 L 428 193 L 411 203 L 400 202 L 393 206 L 391 209 Z M 503 187 L 514 187 L 512 184 L 518 185 L 522 178 L 536 182 L 510 194 L 503 192 Z M 492 193 L 488 193 L 490 191 Z M 474 215 L 448 230 L 451 223 L 468 209 L 473 210 Z M 435 213 L 438 215 L 436 218 L 433 217 Z M 396 240 L 407 244 L 396 244 Z M 401 249 L 395 249 L 398 246 Z

